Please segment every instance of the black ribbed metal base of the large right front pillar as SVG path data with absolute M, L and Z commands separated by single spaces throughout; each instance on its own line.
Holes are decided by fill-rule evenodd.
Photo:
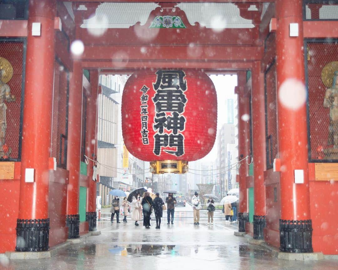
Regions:
M 313 252 L 312 221 L 279 220 L 280 250 L 283 252 Z

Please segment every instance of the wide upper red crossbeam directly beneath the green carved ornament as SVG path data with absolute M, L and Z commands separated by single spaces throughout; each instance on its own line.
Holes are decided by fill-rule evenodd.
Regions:
M 143 33 L 142 36 L 139 33 Z M 139 34 L 139 35 L 138 35 Z M 118 38 L 116 38 L 118 37 Z M 149 39 L 147 37 L 150 37 Z M 187 29 L 154 29 L 134 25 L 126 29 L 110 28 L 101 36 L 93 36 L 86 28 L 77 29 L 77 39 L 85 45 L 252 45 L 258 37 L 258 27 L 224 29 L 193 26 Z

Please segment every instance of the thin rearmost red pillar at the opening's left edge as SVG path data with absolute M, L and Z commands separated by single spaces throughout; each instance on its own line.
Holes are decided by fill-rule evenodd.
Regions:
M 86 155 L 89 158 L 97 155 L 97 130 L 98 130 L 98 115 L 97 115 L 97 98 L 98 98 L 98 83 L 99 72 L 97 70 L 90 71 L 90 87 L 91 93 L 87 99 L 87 115 L 86 115 Z M 89 189 L 87 192 L 87 213 L 86 220 L 89 223 L 89 230 L 96 229 L 96 183 L 92 180 L 94 162 L 89 161 Z M 98 179 L 97 179 L 98 180 Z

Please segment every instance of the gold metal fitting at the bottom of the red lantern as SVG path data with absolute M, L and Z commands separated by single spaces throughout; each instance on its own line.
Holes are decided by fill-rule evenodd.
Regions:
M 186 173 L 188 172 L 188 161 L 184 160 L 161 160 L 150 162 L 150 172 L 162 173 Z

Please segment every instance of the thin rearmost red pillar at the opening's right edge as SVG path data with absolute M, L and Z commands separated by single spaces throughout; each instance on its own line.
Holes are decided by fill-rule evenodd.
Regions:
M 246 72 L 238 72 L 238 156 L 239 160 L 250 154 L 250 122 L 249 122 L 249 98 L 245 93 Z M 238 231 L 245 231 L 245 222 L 248 219 L 248 198 L 246 189 L 246 177 L 249 175 L 247 161 L 240 162 L 239 173 L 239 212 Z

